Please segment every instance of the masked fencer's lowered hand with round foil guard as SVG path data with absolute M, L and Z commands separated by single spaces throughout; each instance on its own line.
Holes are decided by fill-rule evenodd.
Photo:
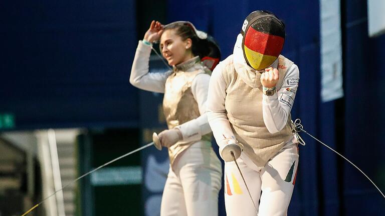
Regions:
M 241 156 L 243 151 L 243 144 L 239 143 L 235 138 L 225 138 L 219 143 L 219 153 L 226 162 L 234 161 L 231 152 L 234 153 L 235 159 Z

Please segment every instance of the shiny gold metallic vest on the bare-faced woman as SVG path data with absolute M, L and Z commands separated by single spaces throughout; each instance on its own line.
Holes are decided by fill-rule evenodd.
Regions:
M 191 92 L 194 78 L 201 73 L 211 75 L 211 70 L 202 65 L 199 56 L 196 56 L 174 66 L 173 72 L 167 77 L 164 88 L 163 112 L 169 129 L 201 115 L 198 103 Z M 203 135 L 202 140 L 210 142 L 211 136 L 212 133 Z M 179 141 L 169 147 L 170 163 L 172 164 L 178 154 L 194 142 L 196 141 Z M 211 146 L 209 142 L 208 145 Z

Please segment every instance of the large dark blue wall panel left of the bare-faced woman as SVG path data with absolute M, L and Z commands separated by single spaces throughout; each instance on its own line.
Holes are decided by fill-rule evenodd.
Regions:
M 135 1 L 1 4 L 0 113 L 16 129 L 137 126 Z

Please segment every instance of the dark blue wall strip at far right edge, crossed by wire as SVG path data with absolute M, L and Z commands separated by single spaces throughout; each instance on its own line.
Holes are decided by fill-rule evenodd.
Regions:
M 385 35 L 368 38 L 366 1 L 347 0 L 345 13 L 344 151 L 384 191 Z M 349 164 L 343 167 L 343 200 L 345 215 L 385 212 L 384 198 Z

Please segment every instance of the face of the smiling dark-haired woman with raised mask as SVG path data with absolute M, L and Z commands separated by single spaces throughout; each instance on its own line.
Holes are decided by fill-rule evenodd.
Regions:
M 175 33 L 175 30 L 165 30 L 160 36 L 160 50 L 162 55 L 173 66 L 188 60 L 191 56 L 191 39 L 182 38 Z

